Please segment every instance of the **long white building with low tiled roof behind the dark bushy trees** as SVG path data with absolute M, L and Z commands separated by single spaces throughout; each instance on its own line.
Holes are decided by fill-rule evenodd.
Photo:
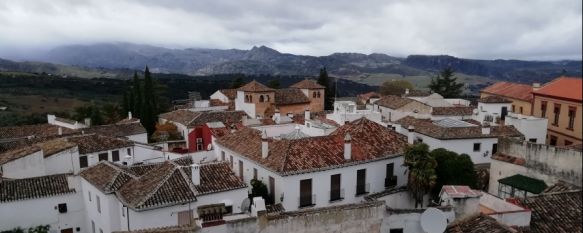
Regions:
M 490 163 L 490 156 L 497 151 L 498 137 L 522 137 L 513 126 L 489 126 L 449 118 L 432 121 L 405 117 L 392 126 L 407 135 L 411 144 L 423 142 L 431 150 L 445 148 L 467 154 L 474 164 Z

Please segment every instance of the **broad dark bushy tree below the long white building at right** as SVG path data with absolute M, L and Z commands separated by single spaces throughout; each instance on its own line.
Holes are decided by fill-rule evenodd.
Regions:
M 443 148 L 432 150 L 430 155 L 437 161 L 435 168 L 437 180 L 432 191 L 434 198 L 439 195 L 443 185 L 467 185 L 477 188 L 478 178 L 470 156 Z

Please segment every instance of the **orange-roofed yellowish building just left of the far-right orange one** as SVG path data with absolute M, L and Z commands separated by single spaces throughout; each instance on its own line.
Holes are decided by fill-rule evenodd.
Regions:
M 534 84 L 537 86 L 539 84 Z M 533 86 L 511 82 L 497 82 L 480 91 L 480 98 L 499 96 L 512 101 L 511 112 L 532 115 Z

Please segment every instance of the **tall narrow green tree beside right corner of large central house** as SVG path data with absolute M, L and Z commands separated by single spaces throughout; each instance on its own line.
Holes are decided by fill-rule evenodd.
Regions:
M 431 192 L 437 179 L 437 162 L 430 156 L 429 146 L 424 143 L 408 146 L 405 149 L 404 166 L 409 170 L 407 188 L 415 199 L 415 208 L 419 205 L 423 207 L 423 196 Z

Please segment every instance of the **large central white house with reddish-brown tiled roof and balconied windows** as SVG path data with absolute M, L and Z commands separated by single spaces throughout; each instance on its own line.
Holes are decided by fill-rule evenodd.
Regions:
M 404 185 L 405 137 L 366 118 L 328 136 L 270 138 L 243 128 L 216 140 L 217 157 L 246 183 L 267 185 L 286 210 L 361 201 L 369 192 Z

